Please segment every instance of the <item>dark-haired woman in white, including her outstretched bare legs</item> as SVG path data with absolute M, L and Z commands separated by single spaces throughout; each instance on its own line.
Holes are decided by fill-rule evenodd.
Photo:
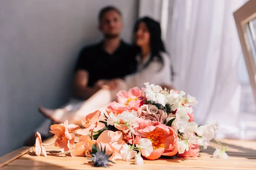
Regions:
M 160 24 L 149 17 L 138 20 L 134 26 L 135 45 L 137 46 L 137 71 L 123 79 L 116 79 L 118 90 L 102 89 L 86 100 L 76 111 L 67 109 L 48 110 L 40 108 L 41 113 L 54 122 L 81 125 L 80 120 L 95 110 L 105 111 L 108 103 L 119 90 L 143 87 L 144 82 L 172 88 L 172 65 L 161 40 Z

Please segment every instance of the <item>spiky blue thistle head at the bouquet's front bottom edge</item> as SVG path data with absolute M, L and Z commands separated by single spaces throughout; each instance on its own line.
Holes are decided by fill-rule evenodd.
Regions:
M 90 152 L 92 158 L 90 159 L 93 163 L 93 167 L 109 167 L 109 162 L 113 163 L 113 161 L 109 160 L 113 153 L 110 155 L 106 154 L 106 147 L 102 150 L 102 146 L 98 148 L 95 144 L 93 144 L 92 152 Z

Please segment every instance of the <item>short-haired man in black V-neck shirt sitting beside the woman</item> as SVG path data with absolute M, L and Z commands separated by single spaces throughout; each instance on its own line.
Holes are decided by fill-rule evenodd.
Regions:
M 108 6 L 100 11 L 99 30 L 104 40 L 81 50 L 76 65 L 74 96 L 88 99 L 102 88 L 114 90 L 118 85 L 116 79 L 135 71 L 135 51 L 121 40 L 122 28 L 122 14 L 117 8 Z M 64 109 L 58 111 L 65 112 Z M 39 111 L 48 114 L 45 108 L 39 108 Z M 44 122 L 36 130 L 43 140 L 48 137 L 49 123 L 49 120 Z M 33 134 L 25 145 L 32 146 L 34 143 Z

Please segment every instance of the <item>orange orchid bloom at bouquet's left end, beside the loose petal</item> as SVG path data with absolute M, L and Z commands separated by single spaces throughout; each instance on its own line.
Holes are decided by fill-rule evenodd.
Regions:
M 54 143 L 55 147 L 59 147 L 61 152 L 67 152 L 69 144 L 74 144 L 75 142 L 75 130 L 79 129 L 79 125 L 70 124 L 66 120 L 63 124 L 51 125 L 51 133 L 55 134 L 54 137 L 57 137 Z

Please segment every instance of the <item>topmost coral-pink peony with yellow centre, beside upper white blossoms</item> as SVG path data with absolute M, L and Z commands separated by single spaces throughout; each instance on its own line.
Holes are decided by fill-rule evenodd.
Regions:
M 145 104 L 145 96 L 140 88 L 131 88 L 127 91 L 119 91 L 116 94 L 116 102 L 109 103 L 108 109 L 113 112 L 137 111 L 141 105 Z

